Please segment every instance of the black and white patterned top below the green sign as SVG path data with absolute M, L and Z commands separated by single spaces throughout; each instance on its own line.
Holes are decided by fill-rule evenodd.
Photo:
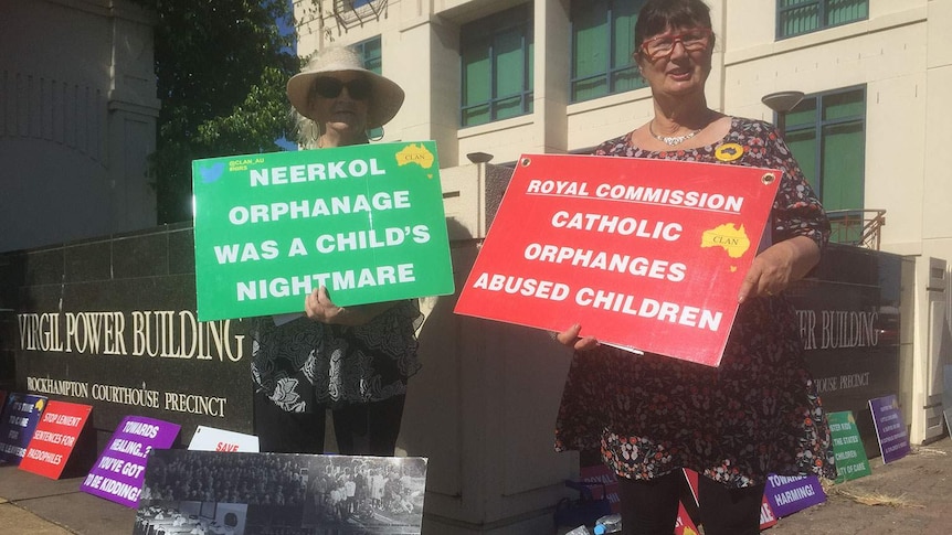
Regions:
M 288 413 L 403 395 L 406 379 L 421 367 L 415 336 L 420 319 L 412 301 L 401 301 L 358 327 L 329 325 L 304 315 L 282 325 L 271 317 L 255 318 L 255 389 Z

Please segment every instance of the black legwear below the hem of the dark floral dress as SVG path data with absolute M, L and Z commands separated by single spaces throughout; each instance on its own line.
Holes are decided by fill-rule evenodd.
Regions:
M 701 475 L 698 502 L 705 535 L 757 535 L 764 485 L 727 486 Z M 671 535 L 678 516 L 680 470 L 650 481 L 618 478 L 623 535 Z

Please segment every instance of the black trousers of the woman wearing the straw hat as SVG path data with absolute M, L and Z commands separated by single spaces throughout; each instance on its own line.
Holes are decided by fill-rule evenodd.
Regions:
M 393 456 L 406 396 L 346 405 L 331 410 L 338 452 L 346 456 Z M 287 413 L 262 393 L 254 395 L 254 428 L 262 451 L 324 453 L 327 409 Z

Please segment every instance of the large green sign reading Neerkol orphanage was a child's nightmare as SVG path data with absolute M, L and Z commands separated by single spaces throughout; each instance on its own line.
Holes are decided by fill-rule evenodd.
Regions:
M 432 141 L 192 162 L 201 321 L 452 293 Z

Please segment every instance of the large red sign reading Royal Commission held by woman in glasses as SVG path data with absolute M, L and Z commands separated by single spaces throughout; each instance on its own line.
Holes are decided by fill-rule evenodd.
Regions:
M 461 314 L 718 365 L 781 172 L 523 156 Z

